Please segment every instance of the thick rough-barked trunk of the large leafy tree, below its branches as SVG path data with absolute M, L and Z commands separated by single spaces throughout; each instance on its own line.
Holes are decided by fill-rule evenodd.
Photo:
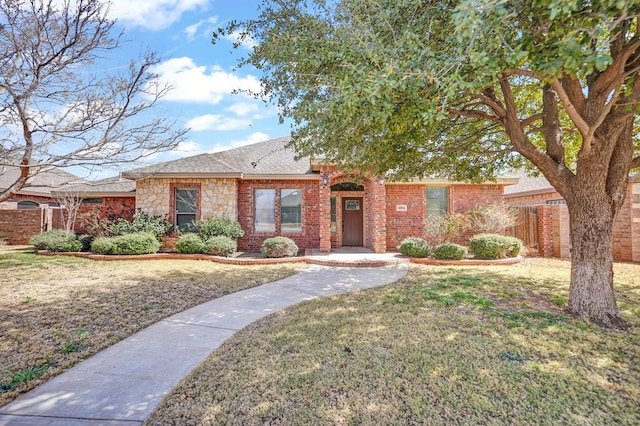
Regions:
M 582 179 L 567 197 L 571 286 L 567 309 L 605 327 L 625 328 L 613 290 L 613 223 L 617 209 L 604 190 Z M 591 186 L 591 188 L 589 188 Z

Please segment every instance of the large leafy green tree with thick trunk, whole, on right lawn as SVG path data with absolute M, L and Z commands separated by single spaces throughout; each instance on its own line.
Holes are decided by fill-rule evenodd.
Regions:
M 624 326 L 613 223 L 640 167 L 636 0 L 264 0 L 240 60 L 343 168 L 482 181 L 539 170 L 571 217 L 569 311 Z M 242 39 L 240 40 L 240 42 Z

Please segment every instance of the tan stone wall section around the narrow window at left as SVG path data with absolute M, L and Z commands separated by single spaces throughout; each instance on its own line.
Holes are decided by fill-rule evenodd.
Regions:
M 151 215 L 173 217 L 171 207 L 171 184 L 200 184 L 200 215 L 202 219 L 226 215 L 238 218 L 235 179 L 145 179 L 136 184 L 136 208 Z

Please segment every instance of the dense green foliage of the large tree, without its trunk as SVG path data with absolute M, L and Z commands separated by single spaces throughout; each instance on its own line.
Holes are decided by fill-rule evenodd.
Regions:
M 520 146 L 545 151 L 543 85 L 573 76 L 588 95 L 613 63 L 612 35 L 635 34 L 635 18 L 619 18 L 638 3 L 283 0 L 233 25 L 259 41 L 241 64 L 265 73 L 301 155 L 398 179 L 479 181 L 525 163 L 505 133 L 507 104 Z M 569 168 L 582 141 L 559 111 Z

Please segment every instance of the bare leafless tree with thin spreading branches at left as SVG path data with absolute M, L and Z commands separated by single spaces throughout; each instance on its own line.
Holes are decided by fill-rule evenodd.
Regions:
M 0 0 L 0 166 L 18 166 L 11 197 L 44 170 L 109 166 L 183 140 L 150 109 L 170 90 L 153 53 L 113 62 L 122 33 L 102 0 Z M 0 167 L 1 169 L 1 167 Z

